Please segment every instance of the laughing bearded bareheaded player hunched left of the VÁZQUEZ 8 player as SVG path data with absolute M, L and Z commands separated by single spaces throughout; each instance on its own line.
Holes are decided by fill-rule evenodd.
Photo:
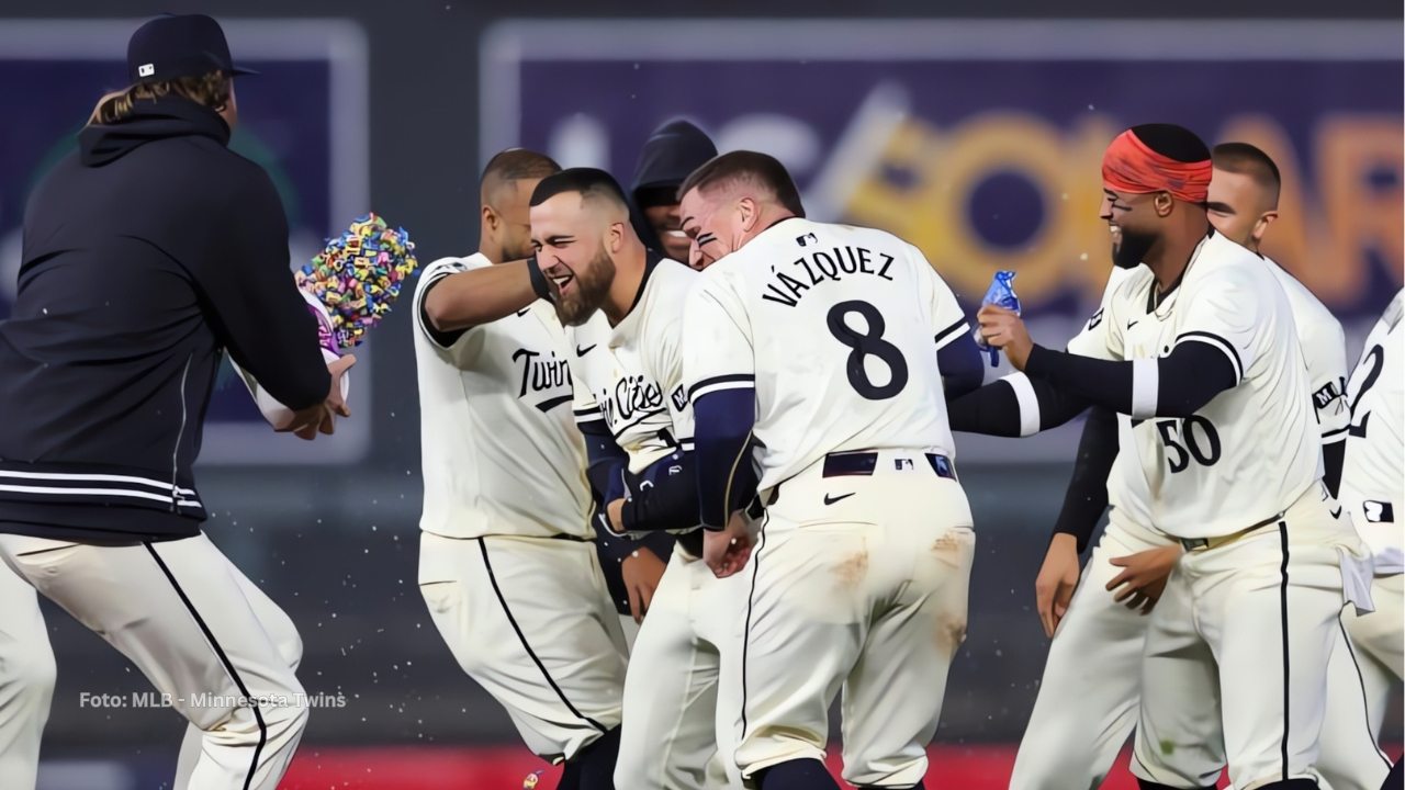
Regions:
M 677 545 L 629 656 L 615 787 L 728 784 L 717 675 L 738 621 L 735 582 L 700 562 L 683 304 L 697 273 L 649 250 L 607 173 L 570 169 L 532 195 L 532 246 L 573 350 L 576 420 L 613 536 L 674 530 Z M 725 732 L 724 732 L 725 735 Z

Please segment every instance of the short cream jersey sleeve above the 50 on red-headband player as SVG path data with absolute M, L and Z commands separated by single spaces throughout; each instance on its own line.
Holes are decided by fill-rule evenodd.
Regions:
M 1276 281 L 1273 284 L 1277 285 Z M 1208 276 L 1194 298 L 1182 302 L 1186 313 L 1175 346 L 1204 343 L 1218 350 L 1234 367 L 1235 384 L 1242 382 L 1272 332 L 1260 326 L 1266 318 L 1266 299 L 1272 298 L 1259 292 L 1260 288 L 1252 277 L 1236 270 Z

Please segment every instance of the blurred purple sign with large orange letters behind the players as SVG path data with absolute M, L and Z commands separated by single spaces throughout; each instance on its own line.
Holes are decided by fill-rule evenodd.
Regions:
M 916 243 L 968 306 L 1019 271 L 1066 336 L 1110 267 L 1103 149 L 1173 121 L 1277 160 L 1266 252 L 1359 332 L 1401 285 L 1399 48 L 1370 22 L 510 21 L 482 39 L 481 156 L 628 179 L 687 117 L 778 156 L 812 216 Z

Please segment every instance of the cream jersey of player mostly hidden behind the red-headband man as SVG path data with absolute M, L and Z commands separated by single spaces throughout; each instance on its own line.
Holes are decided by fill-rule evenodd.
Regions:
M 1264 259 L 1264 266 L 1283 287 L 1288 299 L 1288 309 L 1293 313 L 1293 325 L 1298 343 L 1302 347 L 1304 363 L 1308 371 L 1308 387 L 1312 392 L 1312 405 L 1316 410 L 1318 432 L 1322 444 L 1343 441 L 1346 439 L 1346 423 L 1350 412 L 1346 408 L 1343 389 L 1346 387 L 1346 337 L 1342 325 L 1332 316 L 1332 312 L 1298 283 L 1295 277 L 1280 268 L 1272 260 Z M 1096 351 L 1102 343 L 1097 323 L 1106 313 L 1109 302 L 1118 287 L 1134 276 L 1144 276 L 1145 283 L 1134 288 L 1151 287 L 1151 273 L 1145 267 L 1134 270 L 1113 268 L 1107 280 L 1107 290 L 1103 292 L 1103 302 L 1089 322 L 1089 329 L 1073 337 L 1068 350 L 1075 354 L 1103 356 Z M 1135 330 L 1137 328 L 1132 328 Z M 1128 436 L 1132 417 L 1117 415 L 1123 436 Z M 1109 474 L 1109 503 L 1123 510 L 1123 514 L 1134 523 L 1152 527 L 1151 522 L 1151 492 L 1146 488 L 1146 477 L 1138 470 L 1123 468 L 1131 464 L 1130 455 L 1118 453 Z

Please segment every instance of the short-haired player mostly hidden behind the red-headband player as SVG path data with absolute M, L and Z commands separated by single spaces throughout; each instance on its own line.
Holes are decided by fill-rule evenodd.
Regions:
M 1277 219 L 1279 169 L 1267 155 L 1248 143 L 1215 146 L 1211 159 L 1213 179 L 1207 193 L 1210 222 L 1231 240 L 1257 252 L 1269 225 Z M 1116 292 L 1139 266 L 1132 261 L 1132 268 L 1114 268 L 1107 295 Z M 1347 423 L 1342 398 L 1346 375 L 1342 328 L 1301 283 L 1273 261 L 1266 260 L 1266 266 L 1288 298 L 1322 437 L 1326 460 L 1324 479 L 1335 489 Z M 1104 301 L 1104 315 L 1106 309 Z M 1090 333 L 1075 337 L 1069 350 L 1078 353 L 1089 337 Z M 1117 485 L 1130 478 L 1121 471 L 1111 471 L 1114 457 L 1116 464 L 1134 462 L 1130 455 L 1117 454 L 1117 429 L 1111 413 L 1093 409 L 1073 481 L 1035 585 L 1045 631 L 1051 637 L 1057 633 L 1057 638 L 1050 647 L 1044 682 L 1040 683 L 1040 694 L 1014 762 L 1010 779 L 1014 790 L 1082 790 L 1097 784 L 1135 724 L 1141 647 L 1148 623 L 1145 614 L 1159 596 L 1182 548 L 1148 522 L 1145 486 Z M 1109 479 L 1113 486 L 1107 485 Z M 1114 505 L 1111 520 L 1075 595 L 1078 555 L 1109 498 Z M 1333 652 L 1329 673 L 1333 683 L 1342 685 L 1332 696 L 1354 699 L 1359 704 L 1356 672 L 1345 655 Z M 1367 741 L 1360 715 L 1324 731 L 1319 768 L 1339 790 L 1380 787 L 1384 776 L 1380 760 L 1363 765 L 1359 749 L 1333 748 L 1328 734 L 1352 734 L 1356 741 Z

